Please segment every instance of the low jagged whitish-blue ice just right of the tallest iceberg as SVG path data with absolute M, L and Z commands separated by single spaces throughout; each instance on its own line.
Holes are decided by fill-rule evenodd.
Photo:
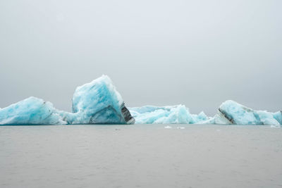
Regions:
M 191 114 L 184 105 L 177 106 L 142 106 L 129 108 L 137 124 L 193 124 L 208 120 L 207 115 Z

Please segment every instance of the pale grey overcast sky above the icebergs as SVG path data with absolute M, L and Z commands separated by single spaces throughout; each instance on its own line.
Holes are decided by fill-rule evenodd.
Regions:
M 282 109 L 282 1 L 0 1 L 0 107 L 28 96 L 71 111 L 109 75 L 127 106 Z

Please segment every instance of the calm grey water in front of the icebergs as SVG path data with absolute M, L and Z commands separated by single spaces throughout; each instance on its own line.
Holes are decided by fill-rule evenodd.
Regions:
M 282 187 L 282 128 L 1 126 L 0 187 Z

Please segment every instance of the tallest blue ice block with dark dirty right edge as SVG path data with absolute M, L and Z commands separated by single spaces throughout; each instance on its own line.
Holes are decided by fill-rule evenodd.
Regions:
M 59 112 L 68 124 L 133 124 L 111 79 L 103 75 L 84 84 L 73 94 L 73 113 Z

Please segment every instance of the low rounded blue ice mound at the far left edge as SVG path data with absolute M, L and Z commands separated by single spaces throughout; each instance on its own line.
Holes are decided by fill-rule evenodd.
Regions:
M 0 109 L 0 125 L 63 125 L 66 124 L 50 102 L 31 96 Z

